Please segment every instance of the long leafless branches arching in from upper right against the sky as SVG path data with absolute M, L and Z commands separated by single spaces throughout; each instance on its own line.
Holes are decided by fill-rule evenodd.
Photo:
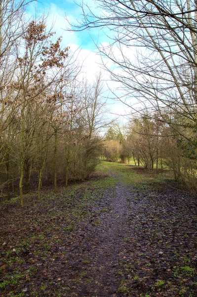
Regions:
M 76 30 L 110 30 L 111 45 L 99 49 L 119 68 L 108 70 L 129 99 L 121 100 L 131 108 L 132 98 L 146 101 L 158 111 L 158 119 L 188 139 L 185 127 L 196 127 L 196 1 L 98 0 L 97 5 L 100 15 L 87 12 L 82 3 L 83 20 Z

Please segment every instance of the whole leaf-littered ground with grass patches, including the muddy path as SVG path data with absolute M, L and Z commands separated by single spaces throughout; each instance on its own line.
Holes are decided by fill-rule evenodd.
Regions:
M 197 199 L 110 174 L 104 190 L 1 206 L 0 296 L 197 296 Z

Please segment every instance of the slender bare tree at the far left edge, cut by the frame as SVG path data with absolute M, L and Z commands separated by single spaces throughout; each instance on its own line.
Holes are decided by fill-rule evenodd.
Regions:
M 6 165 L 7 196 L 10 192 L 10 166 L 13 157 L 13 139 L 19 109 L 19 90 L 16 88 L 18 60 L 16 48 L 24 34 L 26 6 L 34 0 L 0 1 L 0 162 Z

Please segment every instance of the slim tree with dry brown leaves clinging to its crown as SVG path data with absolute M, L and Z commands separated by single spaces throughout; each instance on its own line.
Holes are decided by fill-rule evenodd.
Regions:
M 32 21 L 24 28 L 24 52 L 18 53 L 18 80 L 20 101 L 20 199 L 23 206 L 23 178 L 27 153 L 34 139 L 40 121 L 34 114 L 31 117 L 32 101 L 37 100 L 54 81 L 58 69 L 63 67 L 68 57 L 68 48 L 61 49 L 59 38 L 51 41 L 53 33 L 46 32 L 44 20 Z M 20 50 L 20 48 L 19 48 Z M 56 100 L 56 96 L 52 99 Z

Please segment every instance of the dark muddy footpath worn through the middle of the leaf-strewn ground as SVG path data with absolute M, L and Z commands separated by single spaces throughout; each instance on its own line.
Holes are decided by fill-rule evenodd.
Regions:
M 131 237 L 129 201 L 132 196 L 118 183 L 94 206 L 96 219 L 81 224 L 79 231 L 83 244 L 76 247 L 76 254 L 74 250 L 69 254 L 69 260 L 72 259 L 69 268 L 87 272 L 85 278 L 91 282 L 79 283 L 77 295 L 74 293 L 73 296 L 123 296 L 117 295 L 118 281 L 121 280 L 118 272 L 121 271 L 119 263 L 125 257 L 126 241 Z M 85 261 L 89 263 L 84 267 Z

